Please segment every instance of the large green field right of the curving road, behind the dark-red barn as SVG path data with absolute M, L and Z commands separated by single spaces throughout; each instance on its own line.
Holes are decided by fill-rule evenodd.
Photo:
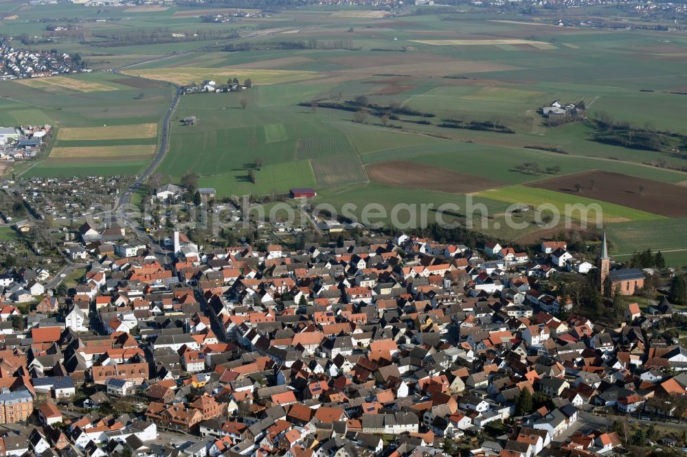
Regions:
M 293 110 L 243 110 L 238 101 L 232 93 L 183 97 L 174 119 L 195 115 L 199 121 L 194 126 L 181 126 L 178 120 L 172 124 L 170 151 L 159 171 L 171 176 L 189 169 L 201 176 L 245 174 L 256 159 L 268 166 L 355 154 L 346 134 L 318 117 Z

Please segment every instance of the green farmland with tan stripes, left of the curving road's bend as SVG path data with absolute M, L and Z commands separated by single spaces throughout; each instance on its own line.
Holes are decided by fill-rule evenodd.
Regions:
M 22 82 L 0 82 L 0 106 L 6 108 L 0 110 L 3 126 L 49 124 L 56 130 L 45 160 L 21 164 L 20 175 L 137 174 L 155 152 L 159 121 L 168 109 L 172 89 L 159 82 L 142 89 L 131 84 L 133 78 L 106 73 L 60 78 L 70 81 L 60 82 L 64 93 Z M 67 89 L 100 85 L 108 89 Z

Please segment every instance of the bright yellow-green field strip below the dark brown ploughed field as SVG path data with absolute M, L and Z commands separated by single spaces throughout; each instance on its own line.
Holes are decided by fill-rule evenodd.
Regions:
M 513 204 L 526 204 L 534 207 L 541 207 L 547 205 L 551 210 L 556 209 L 564 218 L 566 214 L 575 220 L 584 220 L 585 222 L 596 222 L 596 218 L 600 215 L 603 222 L 629 222 L 629 221 L 647 221 L 647 220 L 661 220 L 665 219 L 661 215 L 646 213 L 636 209 L 621 207 L 617 204 L 602 202 L 600 200 L 592 200 L 590 198 L 572 196 L 570 194 L 563 194 L 561 192 L 550 191 L 546 189 L 535 189 L 525 186 L 510 186 L 502 187 L 500 189 L 489 189 L 482 191 L 477 196 L 489 198 L 491 200 L 498 200 Z M 586 215 L 580 211 L 566 211 L 567 205 L 598 205 L 599 211 L 589 211 Z

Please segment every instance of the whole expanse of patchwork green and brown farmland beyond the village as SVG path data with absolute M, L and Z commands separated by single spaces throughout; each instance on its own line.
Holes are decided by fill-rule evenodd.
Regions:
M 98 14 L 104 23 L 84 23 L 92 38 L 64 37 L 60 50 L 78 51 L 96 68 L 142 63 L 122 69 L 129 76 L 94 72 L 50 78 L 51 84 L 0 82 L 0 124 L 57 128 L 54 150 L 25 176 L 136 174 L 158 141 L 174 92 L 170 84 L 249 78 L 254 86 L 247 91 L 181 98 L 157 172 L 172 181 L 196 172 L 200 185 L 216 187 L 219 196 L 315 187 L 318 202 L 335 206 L 464 207 L 471 198 L 489 210 L 479 230 L 506 241 L 537 240 L 533 213 L 518 216 L 526 223 L 521 230 L 505 226 L 504 212 L 514 202 L 556 208 L 595 203 L 604 211 L 614 254 L 687 247 L 679 237 L 687 228 L 679 204 L 687 189 L 687 159 L 679 152 L 687 150 L 684 139 L 671 137 L 659 150 L 593 141 L 593 119 L 599 117 L 687 135 L 681 95 L 687 91 L 687 38 L 679 32 L 559 27 L 545 12 L 499 14 L 495 20 L 483 9 L 412 9 L 389 15 L 306 7 L 216 24 L 199 16 L 231 10 L 104 8 Z M 594 12 L 617 14 L 603 5 Z M 14 34 L 41 36 L 41 18 L 95 12 L 29 5 L 18 16 Z M 116 47 L 103 38 L 158 29 L 245 38 Z M 363 104 L 355 104 L 360 96 Z M 588 119 L 548 125 L 538 110 L 554 100 L 584 106 Z M 181 125 L 188 116 L 196 116 L 196 125 Z M 91 152 L 76 163 L 80 148 Z M 602 170 L 624 177 L 609 178 Z M 590 187 L 590 180 L 594 189 L 576 189 Z M 679 261 L 682 251 L 669 255 Z

